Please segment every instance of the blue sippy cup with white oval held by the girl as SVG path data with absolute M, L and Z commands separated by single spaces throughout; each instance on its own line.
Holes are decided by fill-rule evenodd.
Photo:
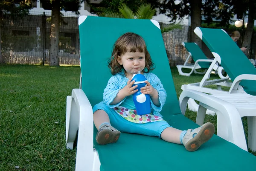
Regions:
M 147 84 L 145 83 L 147 79 L 144 75 L 140 74 L 140 71 L 138 74 L 134 74 L 131 81 L 135 81 L 132 85 L 138 85 L 138 87 L 134 90 L 138 91 L 133 94 L 133 100 L 135 104 L 135 108 L 137 110 L 137 115 L 145 115 L 148 113 L 151 113 L 151 106 L 150 106 L 150 96 L 148 94 L 140 93 L 140 88 L 145 87 Z

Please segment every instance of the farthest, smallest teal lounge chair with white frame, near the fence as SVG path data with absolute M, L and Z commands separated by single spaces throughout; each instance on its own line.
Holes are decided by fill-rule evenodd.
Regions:
M 205 74 L 205 72 L 208 70 L 210 64 L 212 63 L 213 59 L 208 59 L 206 55 L 204 55 L 204 52 L 200 49 L 200 47 L 196 43 L 185 43 L 183 42 L 182 45 L 186 48 L 186 50 L 189 52 L 188 57 L 186 58 L 186 61 L 183 65 L 177 65 L 177 69 L 180 75 L 184 76 L 190 76 L 193 72 L 195 74 Z M 195 61 L 194 64 L 189 64 L 189 58 L 192 57 Z M 187 68 L 191 69 L 190 72 L 186 73 L 183 72 L 182 69 Z M 205 69 L 204 72 L 199 72 L 197 69 Z M 227 76 L 222 75 L 222 67 L 219 67 L 218 64 L 214 66 L 214 70 L 218 73 L 220 78 L 226 78 Z

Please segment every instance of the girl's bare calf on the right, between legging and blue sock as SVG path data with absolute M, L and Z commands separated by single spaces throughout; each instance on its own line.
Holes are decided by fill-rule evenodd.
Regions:
M 168 127 L 161 133 L 161 138 L 167 142 L 181 144 L 180 135 L 183 131 L 176 128 Z

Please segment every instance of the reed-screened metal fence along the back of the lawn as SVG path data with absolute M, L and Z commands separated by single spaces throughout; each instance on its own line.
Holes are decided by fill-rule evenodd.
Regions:
M 34 12 L 27 16 L 4 14 L 2 25 L 2 53 L 9 64 L 49 63 L 50 13 Z M 78 15 L 62 17 L 59 37 L 60 64 L 79 64 L 80 44 Z M 163 23 L 163 22 L 162 22 Z M 163 33 L 163 40 L 170 66 L 183 64 L 188 52 L 181 45 L 188 41 L 189 26 Z M 256 56 L 256 34 L 253 35 L 252 50 L 249 58 Z M 203 44 L 203 51 L 211 53 Z M 45 61 L 44 61 L 45 59 Z

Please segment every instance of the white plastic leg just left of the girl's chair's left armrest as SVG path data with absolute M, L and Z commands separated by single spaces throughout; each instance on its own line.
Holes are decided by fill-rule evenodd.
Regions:
M 67 96 L 66 111 L 66 143 L 67 149 L 72 150 L 79 127 L 79 112 L 71 96 Z

